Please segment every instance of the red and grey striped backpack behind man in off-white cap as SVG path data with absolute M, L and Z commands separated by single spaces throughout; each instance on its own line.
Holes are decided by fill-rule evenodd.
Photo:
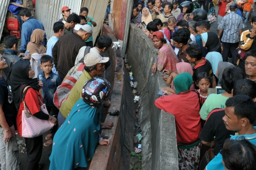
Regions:
M 87 46 L 84 50 L 83 56 L 90 53 L 90 46 Z M 65 80 L 61 85 L 59 85 L 54 93 L 54 105 L 57 108 L 60 108 L 62 103 L 68 98 L 71 89 L 73 89 L 76 81 L 78 81 L 79 77 L 82 75 L 82 71 L 84 69 L 85 64 L 83 63 L 84 57 L 79 61 L 80 66 L 78 67 L 75 74 L 70 76 L 67 80 Z

